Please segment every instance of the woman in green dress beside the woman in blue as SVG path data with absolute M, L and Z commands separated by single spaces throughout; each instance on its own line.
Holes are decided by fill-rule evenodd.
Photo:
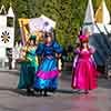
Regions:
M 21 60 L 19 89 L 27 89 L 27 93 L 33 93 L 31 91 L 36 72 L 38 71 L 38 57 L 36 56 L 36 36 L 31 36 L 28 44 L 23 48 L 23 59 Z

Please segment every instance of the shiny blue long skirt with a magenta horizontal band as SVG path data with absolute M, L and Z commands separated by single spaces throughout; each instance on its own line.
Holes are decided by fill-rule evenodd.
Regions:
M 34 88 L 54 91 L 58 87 L 59 71 L 56 58 L 44 58 L 36 73 Z

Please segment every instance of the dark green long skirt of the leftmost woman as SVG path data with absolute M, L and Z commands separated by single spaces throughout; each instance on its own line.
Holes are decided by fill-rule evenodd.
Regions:
M 20 65 L 18 89 L 31 88 L 34 83 L 36 68 L 30 62 L 21 62 Z

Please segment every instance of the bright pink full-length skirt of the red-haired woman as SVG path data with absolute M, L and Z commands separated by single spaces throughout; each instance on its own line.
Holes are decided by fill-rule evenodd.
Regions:
M 93 62 L 79 60 L 72 75 L 71 87 L 80 90 L 97 88 L 97 70 Z

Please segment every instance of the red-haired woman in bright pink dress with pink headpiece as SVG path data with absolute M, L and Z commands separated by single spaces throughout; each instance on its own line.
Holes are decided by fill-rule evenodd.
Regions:
M 83 90 L 83 92 L 87 94 L 89 93 L 89 90 L 97 88 L 97 70 L 95 63 L 92 59 L 94 49 L 89 48 L 88 36 L 80 36 L 79 39 L 81 46 L 75 50 L 78 57 L 75 57 L 77 61 L 73 63 L 74 71 L 71 87 L 73 89 Z

